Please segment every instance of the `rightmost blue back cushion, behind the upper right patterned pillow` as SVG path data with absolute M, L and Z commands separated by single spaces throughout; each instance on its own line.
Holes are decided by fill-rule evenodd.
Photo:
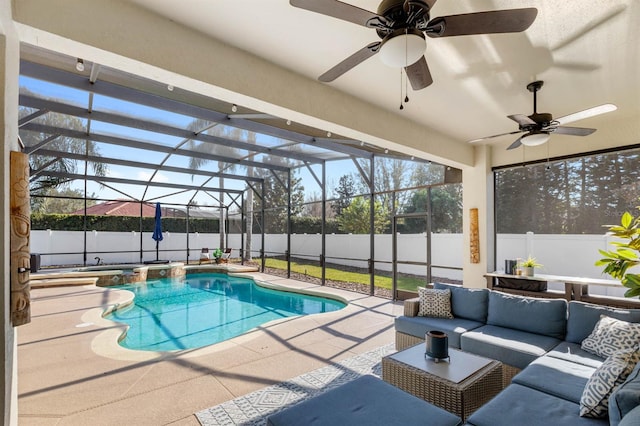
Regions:
M 640 309 L 619 309 L 584 302 L 569 302 L 569 319 L 565 340 L 582 343 L 591 334 L 600 315 L 627 322 L 640 322 Z

